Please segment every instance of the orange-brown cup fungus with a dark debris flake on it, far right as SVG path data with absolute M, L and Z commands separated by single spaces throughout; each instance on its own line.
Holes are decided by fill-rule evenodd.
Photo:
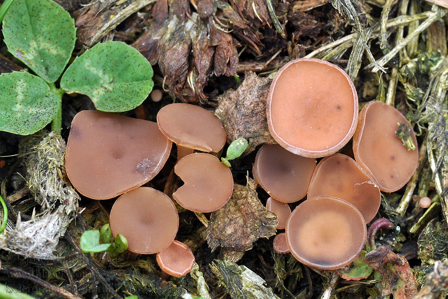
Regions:
M 410 129 L 416 149 L 408 150 L 395 135 L 398 123 L 411 128 L 397 109 L 372 101 L 359 113 L 358 127 L 353 136 L 356 162 L 375 179 L 384 192 L 394 192 L 403 187 L 418 165 L 419 154 L 414 131 Z

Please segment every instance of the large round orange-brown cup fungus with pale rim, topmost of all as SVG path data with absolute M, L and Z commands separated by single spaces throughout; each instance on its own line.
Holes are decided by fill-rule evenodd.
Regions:
M 341 149 L 353 136 L 358 97 L 348 75 L 319 59 L 288 62 L 272 81 L 266 114 L 269 131 L 283 148 L 306 157 Z

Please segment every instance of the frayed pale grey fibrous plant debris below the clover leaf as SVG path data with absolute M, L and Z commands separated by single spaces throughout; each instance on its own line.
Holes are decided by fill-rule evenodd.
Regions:
M 37 144 L 36 144 L 37 142 Z M 55 132 L 33 135 L 22 144 L 28 188 L 41 205 L 29 221 L 18 214 L 15 227 L 6 226 L 0 248 L 24 257 L 53 259 L 59 237 L 78 209 L 79 195 L 65 174 L 65 142 Z

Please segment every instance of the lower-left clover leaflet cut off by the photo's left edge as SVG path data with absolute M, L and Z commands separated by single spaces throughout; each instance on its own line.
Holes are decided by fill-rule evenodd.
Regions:
M 33 134 L 56 115 L 61 100 L 47 83 L 27 72 L 0 75 L 0 131 Z

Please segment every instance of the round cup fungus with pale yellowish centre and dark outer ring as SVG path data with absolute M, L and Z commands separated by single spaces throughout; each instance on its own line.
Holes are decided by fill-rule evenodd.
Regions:
M 315 269 L 335 270 L 351 263 L 365 245 L 367 231 L 361 213 L 331 196 L 305 200 L 286 223 L 291 254 Z

